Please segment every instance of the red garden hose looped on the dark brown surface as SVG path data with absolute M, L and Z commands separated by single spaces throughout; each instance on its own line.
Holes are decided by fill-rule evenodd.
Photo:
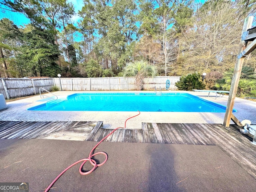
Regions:
M 138 112 L 139 112 L 139 114 L 140 114 L 140 111 L 138 111 Z M 134 118 L 134 117 L 138 116 L 139 114 L 137 114 L 137 115 L 135 115 L 135 116 L 132 116 L 132 117 L 130 117 L 130 118 Z M 126 121 L 129 120 L 130 118 L 126 119 Z M 125 121 L 125 123 L 124 123 L 124 128 L 126 128 L 126 121 Z M 110 136 L 113 132 L 115 132 L 115 131 L 116 131 L 117 129 L 119 129 L 119 128 L 123 128 L 123 127 L 118 127 L 118 128 L 116 128 L 116 129 L 114 129 L 112 132 L 110 132 L 110 134 L 108 134 L 106 137 L 104 137 L 102 140 L 100 140 L 100 142 L 98 142 L 98 144 L 96 144 L 96 146 L 94 146 L 94 148 L 92 148 L 92 150 L 91 150 L 91 152 L 90 152 L 88 158 L 81 159 L 81 160 L 79 160 L 79 161 L 73 163 L 72 165 L 68 166 L 65 170 L 63 170 L 63 171 L 52 181 L 52 183 L 44 190 L 44 192 L 47 192 L 48 190 L 50 190 L 50 188 L 52 187 L 52 185 L 58 180 L 58 178 L 60 178 L 60 176 L 62 176 L 62 174 L 64 174 L 64 172 L 66 172 L 66 170 L 68 170 L 69 168 L 71 168 L 72 166 L 74 166 L 74 165 L 76 165 L 76 164 L 78 164 L 78 163 L 80 163 L 80 162 L 82 162 L 82 164 L 81 164 L 81 166 L 80 166 L 80 168 L 79 168 L 79 172 L 80 172 L 81 175 L 88 175 L 88 174 L 90 174 L 91 172 L 93 172 L 96 167 L 102 166 L 102 165 L 108 160 L 108 155 L 107 155 L 105 152 L 97 152 L 97 153 L 94 153 L 94 154 L 92 154 L 92 153 L 93 153 L 93 151 L 96 149 L 96 147 L 97 147 L 102 141 L 104 141 L 108 136 Z M 104 160 L 102 163 L 100 163 L 100 164 L 97 164 L 96 161 L 92 159 L 93 156 L 98 155 L 98 154 L 103 154 L 103 155 L 105 155 L 105 160 Z M 92 168 L 91 170 L 87 171 L 87 172 L 82 172 L 82 167 L 83 167 L 83 165 L 84 165 L 87 161 L 89 161 L 90 164 L 92 164 L 93 168 Z

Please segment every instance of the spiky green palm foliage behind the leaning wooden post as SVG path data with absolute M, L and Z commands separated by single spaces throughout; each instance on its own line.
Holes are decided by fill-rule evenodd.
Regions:
M 215 87 L 218 90 L 229 91 L 231 87 L 233 73 L 234 69 L 225 72 L 223 78 L 215 84 Z M 253 68 L 247 66 L 242 67 L 236 96 L 256 96 L 256 76 Z

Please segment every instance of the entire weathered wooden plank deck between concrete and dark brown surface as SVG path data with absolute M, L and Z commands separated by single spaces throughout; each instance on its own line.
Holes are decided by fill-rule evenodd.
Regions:
M 0 121 L 0 138 L 100 141 L 113 129 L 102 122 Z M 256 146 L 236 126 L 222 124 L 142 123 L 142 129 L 118 129 L 105 142 L 217 145 L 256 179 Z

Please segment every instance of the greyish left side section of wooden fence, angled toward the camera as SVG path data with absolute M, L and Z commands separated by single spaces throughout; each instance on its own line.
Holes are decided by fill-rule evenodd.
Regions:
M 39 88 L 46 90 L 54 85 L 52 78 L 0 78 L 0 94 L 10 99 L 39 93 Z

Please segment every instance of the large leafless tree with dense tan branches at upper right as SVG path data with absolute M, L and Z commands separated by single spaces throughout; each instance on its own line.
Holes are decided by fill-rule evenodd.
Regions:
M 194 26 L 183 36 L 183 70 L 225 71 L 234 64 L 239 46 L 242 12 L 234 3 L 208 2 L 194 17 Z

